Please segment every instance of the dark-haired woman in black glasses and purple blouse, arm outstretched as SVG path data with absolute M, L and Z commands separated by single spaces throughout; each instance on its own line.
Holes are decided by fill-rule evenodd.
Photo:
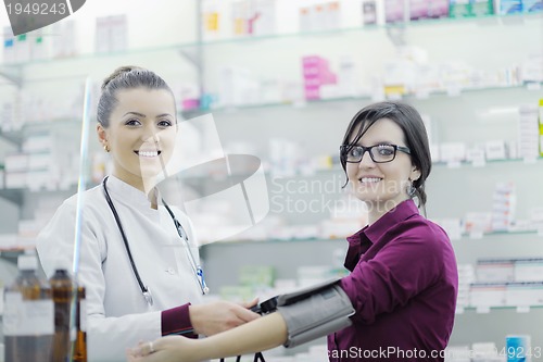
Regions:
M 351 273 L 339 286 L 354 314 L 350 326 L 330 330 L 329 361 L 443 361 L 458 278 L 447 235 L 414 200 L 425 210 L 431 170 L 419 113 L 400 102 L 364 108 L 345 132 L 340 157 L 352 192 L 367 205 L 368 225 L 348 237 Z M 289 345 L 303 313 L 296 319 L 279 308 L 210 338 L 142 342 L 128 360 L 192 362 Z

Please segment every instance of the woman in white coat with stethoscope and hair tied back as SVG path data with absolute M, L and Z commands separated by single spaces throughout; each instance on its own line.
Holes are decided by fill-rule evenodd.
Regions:
M 85 194 L 78 277 L 89 361 L 121 361 L 140 340 L 209 336 L 258 317 L 249 305 L 201 302 L 206 287 L 190 221 L 154 187 L 177 133 L 167 84 L 148 70 L 117 68 L 102 84 L 97 118 L 113 172 Z M 47 276 L 72 265 L 76 207 L 76 197 L 65 200 L 38 236 Z

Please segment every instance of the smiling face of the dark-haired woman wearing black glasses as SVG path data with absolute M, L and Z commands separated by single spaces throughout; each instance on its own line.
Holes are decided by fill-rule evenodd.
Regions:
M 351 135 L 355 139 L 358 127 Z M 375 122 L 356 142 L 357 146 L 396 145 L 405 147 L 402 128 L 389 118 Z M 409 154 L 396 151 L 393 161 L 376 163 L 369 152 L 365 152 L 359 163 L 346 163 L 346 175 L 354 195 L 366 202 L 370 223 L 378 220 L 399 203 L 407 200 L 407 187 L 420 177 L 420 172 L 412 164 Z

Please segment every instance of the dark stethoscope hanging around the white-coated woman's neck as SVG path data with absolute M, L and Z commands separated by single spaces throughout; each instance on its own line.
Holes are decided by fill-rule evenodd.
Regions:
M 108 182 L 108 177 L 105 177 L 102 182 L 103 190 L 104 190 L 104 196 L 105 200 L 108 201 L 108 204 L 110 205 L 111 212 L 113 213 L 113 216 L 115 217 L 115 222 L 117 223 L 118 230 L 121 232 L 121 236 L 123 237 L 123 241 L 125 244 L 126 248 L 126 253 L 128 254 L 128 259 L 130 260 L 130 265 L 134 271 L 134 275 L 136 275 L 136 279 L 138 280 L 139 287 L 141 289 L 141 294 L 143 295 L 143 298 L 146 298 L 146 301 L 149 305 L 153 305 L 153 296 L 151 295 L 151 289 L 147 285 L 143 284 L 141 280 L 141 277 L 138 273 L 138 269 L 136 267 L 136 263 L 134 262 L 132 253 L 130 252 L 130 247 L 128 245 L 128 239 L 126 238 L 125 230 L 123 228 L 123 225 L 121 224 L 121 219 L 118 217 L 117 210 L 115 209 L 115 205 L 113 204 L 113 201 L 111 200 L 110 192 L 108 192 L 108 187 L 105 186 Z M 192 273 L 194 273 L 194 276 L 197 277 L 198 285 L 200 286 L 200 289 L 202 290 L 202 295 L 206 295 L 210 292 L 210 288 L 207 288 L 207 285 L 205 284 L 204 275 L 203 275 L 203 270 L 198 264 L 197 259 L 192 254 L 191 247 L 189 244 L 189 237 L 187 233 L 185 232 L 185 228 L 182 227 L 181 223 L 175 217 L 174 213 L 169 209 L 169 207 L 166 204 L 164 199 L 162 199 L 162 203 L 166 208 L 167 212 L 169 213 L 169 216 L 172 216 L 172 220 L 174 221 L 175 228 L 177 229 L 177 234 L 179 237 L 185 241 L 186 249 L 187 249 L 187 257 L 189 258 L 190 266 L 192 269 Z

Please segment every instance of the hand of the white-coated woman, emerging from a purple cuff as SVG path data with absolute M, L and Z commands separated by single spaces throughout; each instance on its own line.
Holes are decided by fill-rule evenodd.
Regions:
M 220 300 L 190 305 L 190 323 L 194 333 L 212 336 L 256 320 L 260 315 L 251 312 L 249 308 L 255 305 L 257 301 L 254 299 L 249 303 L 238 304 Z

